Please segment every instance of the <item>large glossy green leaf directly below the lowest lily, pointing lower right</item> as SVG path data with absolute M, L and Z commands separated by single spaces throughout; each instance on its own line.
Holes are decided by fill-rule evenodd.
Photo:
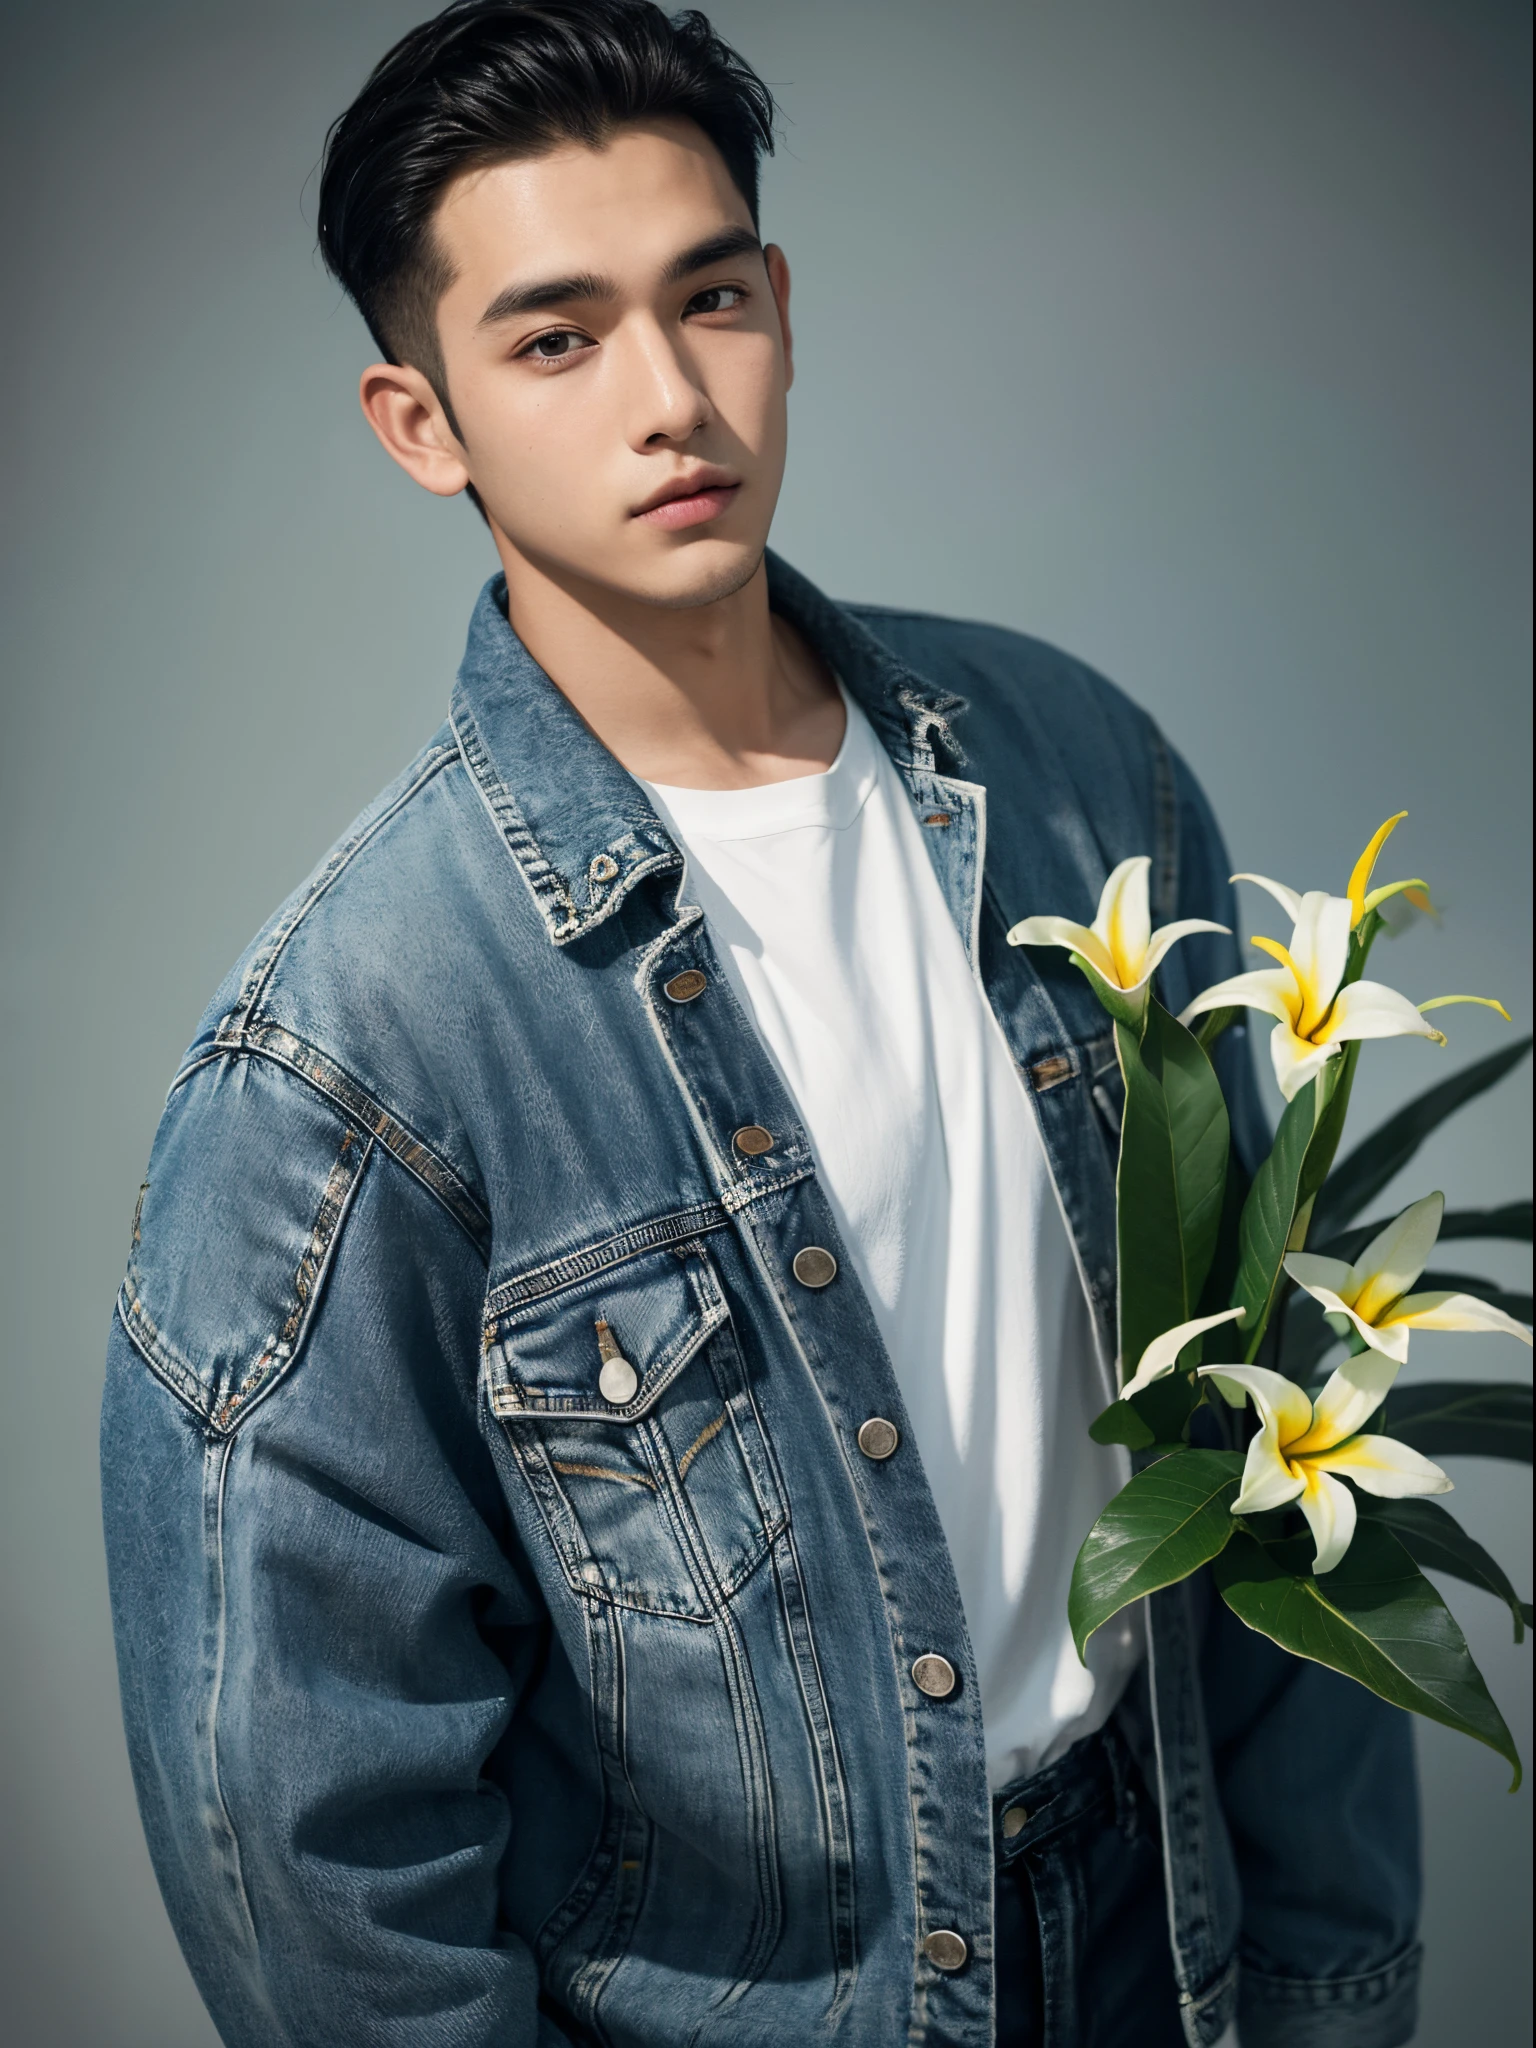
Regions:
M 1358 1679 L 1393 1706 L 1458 1729 L 1513 1765 L 1520 1751 L 1466 1638 L 1403 1544 L 1378 1522 L 1356 1526 L 1335 1571 L 1313 1577 L 1311 1536 L 1257 1542 L 1239 1532 L 1214 1561 L 1221 1597 L 1294 1657 Z

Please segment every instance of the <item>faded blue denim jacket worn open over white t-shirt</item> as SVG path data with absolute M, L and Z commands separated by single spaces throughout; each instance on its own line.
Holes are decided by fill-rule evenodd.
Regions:
M 770 580 L 911 793 L 1110 1399 L 1114 1049 L 1006 932 L 1090 918 L 1139 852 L 1159 920 L 1231 924 L 1210 813 L 1081 664 Z M 231 2048 L 987 2048 L 979 1692 L 891 1362 L 678 848 L 504 600 L 451 721 L 219 989 L 139 1196 L 102 1454 L 170 1917 Z M 1192 940 L 1165 999 L 1235 965 Z M 1188 2040 L 1239 1985 L 1245 2048 L 1407 2040 L 1407 1722 L 1198 1581 L 1149 1608 L 1122 1714 Z

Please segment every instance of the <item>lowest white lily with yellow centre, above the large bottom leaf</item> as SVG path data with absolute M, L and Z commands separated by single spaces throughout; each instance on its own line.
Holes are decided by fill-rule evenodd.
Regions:
M 1249 1440 L 1235 1516 L 1288 1507 L 1307 1516 L 1317 1544 L 1313 1573 L 1333 1571 L 1350 1548 L 1354 1493 L 1335 1475 L 1386 1501 L 1413 1493 L 1450 1493 L 1450 1479 L 1417 1450 L 1391 1436 L 1358 1436 L 1397 1378 L 1397 1366 L 1376 1352 L 1346 1360 L 1317 1401 L 1264 1366 L 1202 1366 L 1253 1395 L 1262 1430 Z

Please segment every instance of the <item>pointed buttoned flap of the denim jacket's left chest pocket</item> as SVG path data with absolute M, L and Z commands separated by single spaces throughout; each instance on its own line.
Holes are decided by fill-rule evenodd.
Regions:
M 496 1317 L 485 1331 L 492 1411 L 639 1421 L 727 1319 L 696 1243 L 608 1266 Z M 627 1401 L 604 1399 L 598 1384 L 604 1341 L 635 1370 Z

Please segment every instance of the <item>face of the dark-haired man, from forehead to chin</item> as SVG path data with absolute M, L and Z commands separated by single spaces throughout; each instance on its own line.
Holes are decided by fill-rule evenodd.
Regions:
M 784 469 L 788 272 L 702 131 L 467 174 L 434 229 L 449 399 L 512 551 L 649 604 L 737 590 Z

